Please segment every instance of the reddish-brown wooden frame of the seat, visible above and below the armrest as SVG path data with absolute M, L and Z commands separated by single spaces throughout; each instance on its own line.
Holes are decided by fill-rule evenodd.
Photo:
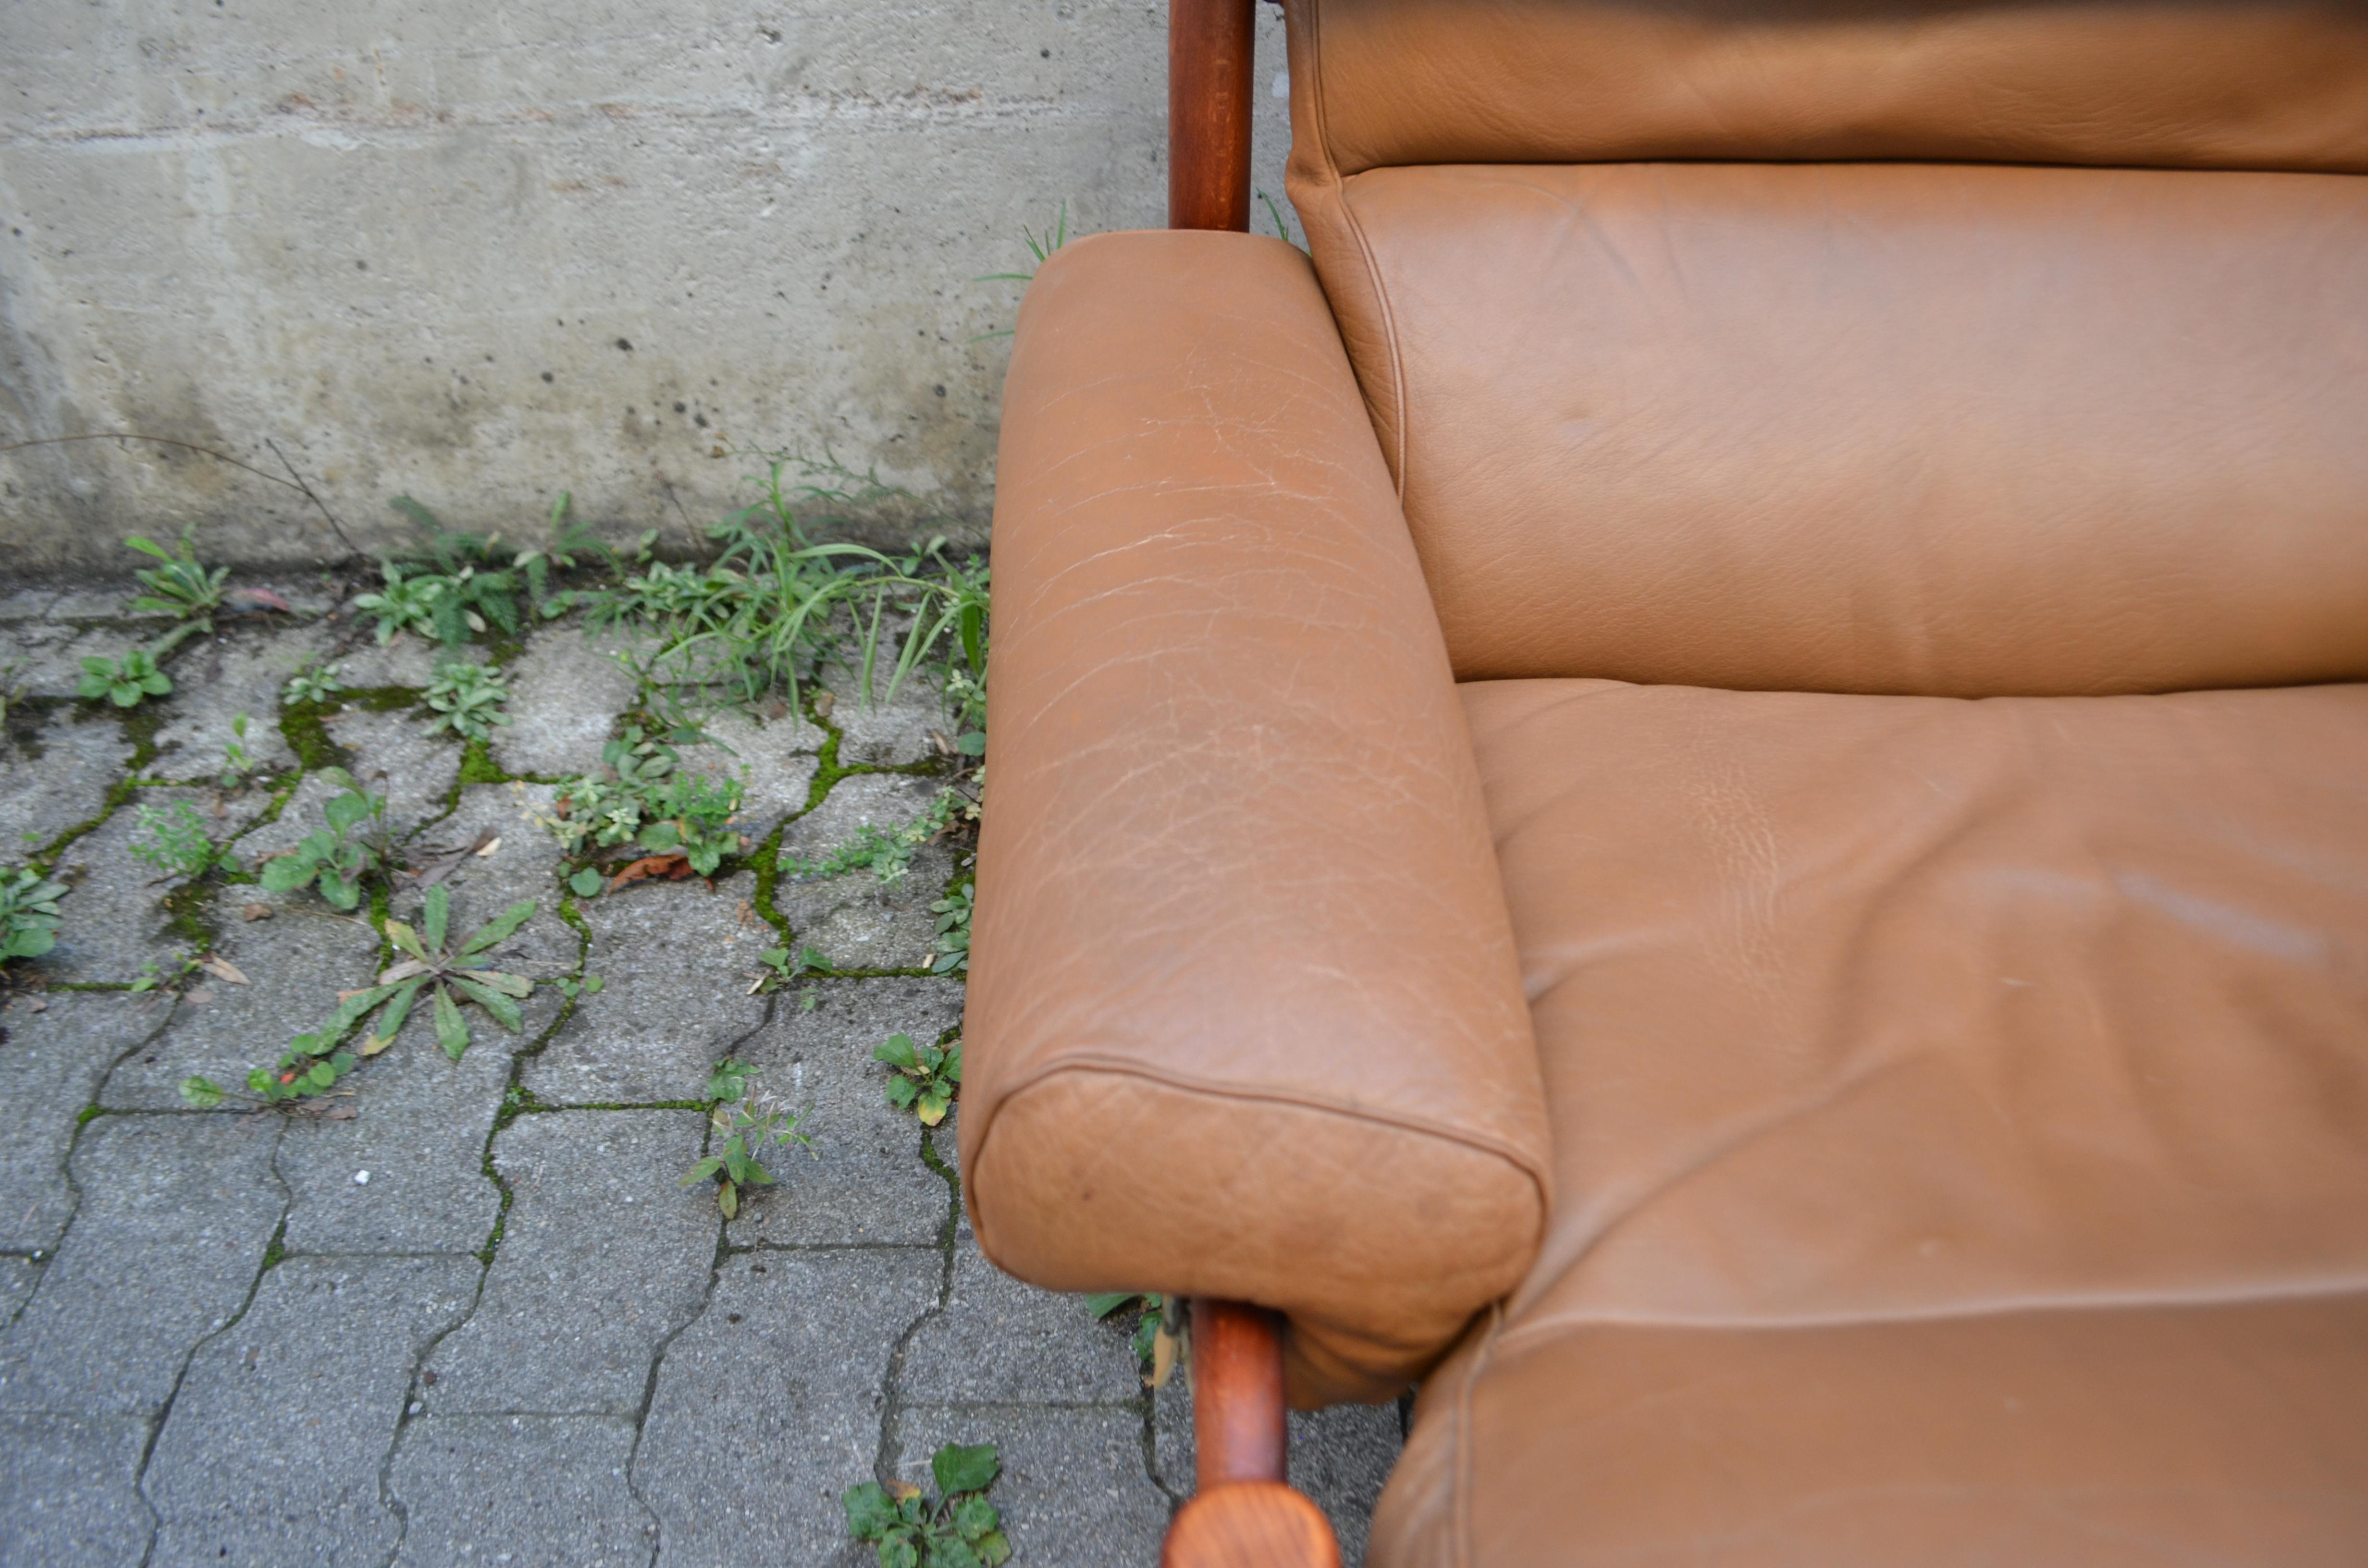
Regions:
M 1167 5 L 1167 227 L 1250 230 L 1257 0 Z M 1191 1305 L 1198 1495 L 1163 1568 L 1340 1568 L 1324 1514 L 1286 1483 L 1283 1324 L 1238 1300 Z

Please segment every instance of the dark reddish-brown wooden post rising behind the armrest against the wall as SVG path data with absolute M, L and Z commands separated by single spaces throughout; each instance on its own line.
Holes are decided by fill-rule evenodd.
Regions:
M 1257 0 L 1167 5 L 1167 227 L 1250 230 Z

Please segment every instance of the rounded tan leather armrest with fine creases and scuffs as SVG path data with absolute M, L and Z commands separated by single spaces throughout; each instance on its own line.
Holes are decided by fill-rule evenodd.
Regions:
M 964 1196 L 1061 1291 L 1279 1307 L 1378 1400 L 1544 1227 L 1537 1047 L 1437 616 L 1307 261 L 1028 289 L 995 507 Z

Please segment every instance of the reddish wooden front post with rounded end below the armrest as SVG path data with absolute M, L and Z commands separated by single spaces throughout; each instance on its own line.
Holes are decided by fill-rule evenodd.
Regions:
M 1340 1568 L 1331 1523 L 1286 1485 L 1283 1324 L 1238 1300 L 1191 1303 L 1191 1426 L 1201 1495 L 1163 1568 Z

